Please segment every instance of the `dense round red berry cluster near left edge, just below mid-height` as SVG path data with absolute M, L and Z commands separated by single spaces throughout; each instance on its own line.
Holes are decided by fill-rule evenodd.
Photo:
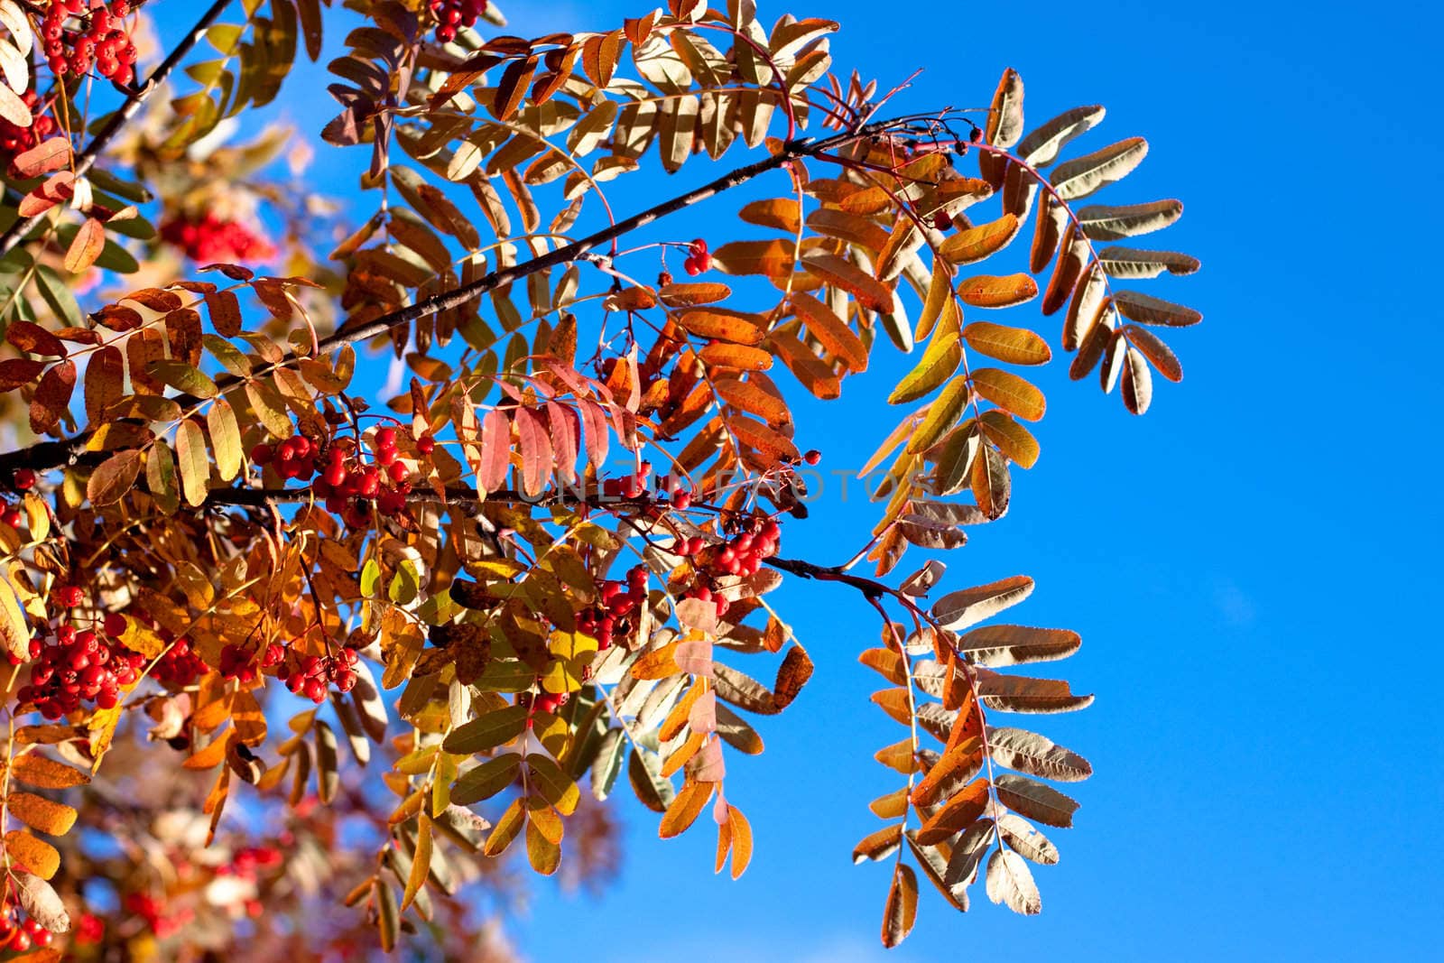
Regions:
M 30 683 L 20 687 L 19 699 L 35 703 L 46 719 L 75 712 L 82 700 L 94 700 L 101 709 L 116 707 L 121 686 L 133 684 L 146 666 L 144 655 L 108 634 L 77 631 L 71 624 L 55 631 L 53 644 L 32 640 L 30 661 Z

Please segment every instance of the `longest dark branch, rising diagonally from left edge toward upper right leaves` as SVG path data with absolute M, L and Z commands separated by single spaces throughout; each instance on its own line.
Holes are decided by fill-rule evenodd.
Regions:
M 592 248 L 601 247 L 602 244 L 611 243 L 612 238 L 622 237 L 669 214 L 674 214 L 677 211 L 682 211 L 683 208 L 692 206 L 693 204 L 706 201 L 708 198 L 712 198 L 723 191 L 728 191 L 729 188 L 747 183 L 748 180 L 757 178 L 758 175 L 767 173 L 770 170 L 777 170 L 778 167 L 783 167 L 791 163 L 793 160 L 803 160 L 806 157 L 823 156 L 830 150 L 835 150 L 859 139 L 871 137 L 874 134 L 887 130 L 908 127 L 917 123 L 917 120 L 918 120 L 917 117 L 897 117 L 892 120 L 865 124 L 862 127 L 858 127 L 856 130 L 835 134 L 832 137 L 825 137 L 822 140 L 807 139 L 807 140 L 790 141 L 784 144 L 784 147 L 771 157 L 764 157 L 762 160 L 757 160 L 754 163 L 738 167 L 731 173 L 722 175 L 716 180 L 710 180 L 702 185 L 700 188 L 695 188 L 683 195 L 671 198 L 670 201 L 663 201 L 661 204 L 653 205 L 645 211 L 641 211 L 640 214 L 634 214 L 630 218 L 617 221 L 615 224 L 611 224 L 602 228 L 601 231 L 596 231 L 595 234 L 591 234 L 578 241 L 559 247 L 554 251 L 549 251 L 546 254 L 542 254 L 540 257 L 534 257 L 531 260 L 513 264 L 511 267 L 492 271 L 485 277 L 474 280 L 469 284 L 462 284 L 461 287 L 456 287 L 453 290 L 443 292 L 440 295 L 433 295 L 432 297 L 410 305 L 409 308 L 394 310 L 388 315 L 383 315 L 375 321 L 370 321 L 364 325 L 357 325 L 355 328 L 349 329 L 342 326 L 341 331 L 335 332 L 328 338 L 321 339 L 319 355 L 331 354 L 332 351 L 341 348 L 342 345 L 370 341 L 377 335 L 386 334 L 391 328 L 399 328 L 400 325 L 409 325 L 413 321 L 417 321 L 419 318 L 425 318 L 436 312 L 458 308 L 461 305 L 465 305 L 468 300 L 472 300 L 474 297 L 485 295 L 487 292 L 494 290 L 497 287 L 503 287 L 505 284 L 511 284 L 514 282 L 530 277 L 537 271 L 544 271 L 559 264 L 567 264 L 580 260 L 583 254 L 586 254 Z M 302 357 L 310 357 L 310 355 L 297 355 L 292 352 L 274 364 L 267 364 L 263 365 L 260 370 L 253 371 L 250 378 L 241 378 L 238 375 L 219 377 L 215 380 L 217 388 L 219 390 L 219 393 L 225 393 L 240 384 L 244 384 L 248 380 L 263 378 L 279 368 L 292 365 Z M 180 396 L 175 400 L 180 401 L 182 404 L 196 401 L 196 398 L 189 398 L 186 396 Z M 29 448 L 0 455 L 0 481 L 9 479 L 10 474 L 14 472 L 14 469 L 17 468 L 45 471 L 49 468 L 75 465 L 81 458 L 81 455 L 85 452 L 85 443 L 90 440 L 92 433 L 94 429 L 81 432 L 79 435 L 77 435 L 69 440 L 39 442 Z

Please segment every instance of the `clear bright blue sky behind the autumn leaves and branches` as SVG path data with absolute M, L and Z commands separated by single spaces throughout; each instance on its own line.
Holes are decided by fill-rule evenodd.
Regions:
M 647 9 L 510 7 L 518 33 L 609 29 Z M 765 20 L 783 12 L 762 7 Z M 1021 723 L 1096 775 L 1073 787 L 1077 827 L 1050 833 L 1063 860 L 1037 872 L 1041 917 L 992 907 L 980 888 L 966 917 L 924 894 L 913 936 L 884 953 L 887 869 L 849 863 L 878 826 L 868 800 L 897 785 L 871 755 L 900 732 L 868 703 L 877 677 L 856 664 L 875 619 L 845 592 L 788 588 L 817 673 L 787 715 L 761 720 L 767 752 L 732 762 L 729 797 L 758 845 L 744 879 L 712 876 L 710 827 L 663 843 L 656 819 L 624 801 L 622 876 L 599 899 L 539 886 L 513 927 L 518 944 L 539 960 L 618 963 L 1437 950 L 1438 16 L 1333 3 L 934 4 L 933 20 L 915 6 L 895 17 L 852 1 L 790 9 L 840 20 L 836 65 L 884 87 L 926 66 L 902 110 L 985 105 L 1009 65 L 1034 124 L 1102 103 L 1108 120 L 1082 149 L 1144 134 L 1152 152 L 1099 199 L 1187 205 L 1141 244 L 1204 263 L 1147 283 L 1204 313 L 1171 338 L 1184 383 L 1160 381 L 1135 419 L 1093 380 L 1043 371 L 1040 463 L 1015 475 L 1011 514 L 947 557 L 949 586 L 1034 576 L 1009 616 L 1083 634 L 1054 674 L 1096 705 Z M 335 152 L 321 150 L 329 178 Z M 635 209 L 656 191 L 638 179 L 614 204 Z M 741 199 L 666 234 L 715 232 Z M 989 319 L 1040 323 L 1057 348 L 1057 323 L 1032 306 Z M 803 410 L 799 439 L 825 450 L 825 468 L 859 465 L 897 420 L 882 398 L 911 360 L 885 345 L 877 357 L 840 403 Z M 823 498 L 810 523 L 788 526 L 786 552 L 840 560 L 859 541 L 839 533 L 875 513 Z

